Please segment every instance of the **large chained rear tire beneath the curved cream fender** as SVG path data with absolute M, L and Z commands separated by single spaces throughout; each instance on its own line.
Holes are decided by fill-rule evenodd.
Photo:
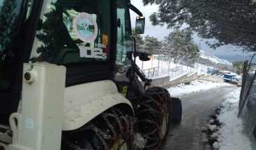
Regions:
M 63 131 L 61 150 L 116 150 L 116 142 L 133 149 L 133 135 L 133 117 L 110 108 L 81 128 Z

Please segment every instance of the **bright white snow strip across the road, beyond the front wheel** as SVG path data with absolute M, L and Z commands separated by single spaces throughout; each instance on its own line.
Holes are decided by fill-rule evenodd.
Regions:
M 189 85 L 179 84 L 176 87 L 168 89 L 172 97 L 180 97 L 185 94 L 202 92 L 211 88 L 217 88 L 220 86 L 230 86 L 227 83 L 215 83 L 212 81 L 196 80 L 191 81 Z

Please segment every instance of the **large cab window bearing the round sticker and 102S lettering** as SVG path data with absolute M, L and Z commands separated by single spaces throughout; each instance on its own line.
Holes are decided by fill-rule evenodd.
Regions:
M 110 58 L 110 1 L 44 2 L 31 62 L 58 65 L 106 62 Z

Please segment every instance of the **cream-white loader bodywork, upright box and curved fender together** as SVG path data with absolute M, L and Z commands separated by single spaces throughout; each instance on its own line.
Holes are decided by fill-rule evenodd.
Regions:
M 23 80 L 22 109 L 10 116 L 12 144 L 0 144 L 8 150 L 60 149 L 61 131 L 80 128 L 93 117 L 120 103 L 133 111 L 130 101 L 118 92 L 112 81 L 64 88 L 66 68 L 63 66 L 25 64 L 24 74 L 27 72 L 31 78 Z M 27 135 L 27 138 L 20 135 Z

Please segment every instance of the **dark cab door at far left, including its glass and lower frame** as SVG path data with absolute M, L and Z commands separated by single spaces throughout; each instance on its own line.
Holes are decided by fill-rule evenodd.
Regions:
M 22 87 L 24 26 L 31 16 L 32 0 L 0 1 L 0 124 L 8 125 L 11 113 L 17 111 Z

